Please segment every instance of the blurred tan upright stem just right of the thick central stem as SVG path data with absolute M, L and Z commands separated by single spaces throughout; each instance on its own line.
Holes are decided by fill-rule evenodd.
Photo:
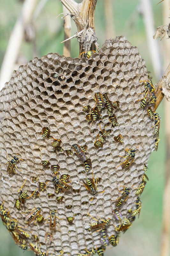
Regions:
M 105 19 L 106 19 L 106 38 L 114 38 L 114 16 L 113 16 L 113 8 L 112 8 L 112 0 L 105 0 Z

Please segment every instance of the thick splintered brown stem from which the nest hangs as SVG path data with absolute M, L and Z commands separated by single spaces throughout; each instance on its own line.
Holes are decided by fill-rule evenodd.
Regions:
M 77 34 L 79 49 L 81 52 L 95 50 L 98 38 L 95 36 L 94 13 L 97 0 L 83 0 L 80 4 L 73 0 L 60 0 L 68 9 L 70 16 L 75 21 L 78 32 L 83 30 L 81 34 Z M 82 54 L 81 57 L 85 55 Z

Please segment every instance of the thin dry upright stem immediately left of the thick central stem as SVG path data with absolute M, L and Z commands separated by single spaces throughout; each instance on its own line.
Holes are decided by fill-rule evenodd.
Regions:
M 63 5 L 63 12 L 67 12 L 67 8 Z M 64 17 L 64 40 L 71 36 L 71 17 L 69 15 Z M 71 42 L 70 40 L 64 42 L 63 55 L 70 57 Z

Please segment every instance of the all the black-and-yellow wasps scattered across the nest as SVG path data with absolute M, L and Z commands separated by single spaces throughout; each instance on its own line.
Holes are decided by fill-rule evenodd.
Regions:
M 93 51 L 90 52 L 86 52 L 85 56 L 87 58 L 89 58 L 92 55 Z M 153 131 L 153 135 L 157 135 L 156 139 L 155 139 L 155 150 L 157 150 L 158 148 L 158 142 L 159 142 L 159 127 L 160 127 L 160 116 L 158 115 L 158 113 L 154 113 L 151 109 L 151 106 L 153 104 L 155 104 L 156 102 L 156 95 L 154 94 L 154 87 L 152 84 L 152 80 L 150 79 L 150 77 L 148 76 L 148 81 L 144 81 L 145 82 L 145 92 L 144 92 L 144 98 L 142 99 L 142 102 L 140 104 L 140 108 L 146 108 L 148 116 L 151 120 L 155 120 L 155 124 L 154 124 L 154 131 Z M 85 106 L 82 110 L 86 113 L 86 120 L 88 121 L 89 125 L 92 125 L 93 122 L 95 121 L 99 121 L 99 123 L 97 123 L 97 125 L 100 125 L 102 122 L 102 119 L 104 119 L 105 117 L 102 117 L 100 112 L 102 110 L 102 108 L 107 108 L 107 115 L 108 115 L 108 119 L 110 121 L 110 123 L 112 124 L 112 127 L 115 127 L 118 125 L 116 116 L 114 114 L 114 109 L 117 108 L 119 106 L 119 103 L 117 101 L 115 102 L 111 102 L 108 99 L 107 93 L 104 93 L 103 95 L 100 92 L 96 92 L 94 94 L 94 100 L 95 100 L 95 106 L 94 108 L 90 108 L 90 106 Z M 103 142 L 106 139 L 106 136 L 109 136 L 111 133 L 110 129 L 107 129 L 107 126 L 109 124 L 105 124 L 104 125 L 104 129 L 101 129 L 100 126 L 100 132 L 97 134 L 96 140 L 94 142 L 94 146 L 96 149 L 100 149 L 103 148 Z M 93 133 L 94 129 L 91 130 L 90 133 Z M 50 130 L 48 127 L 44 127 L 42 129 L 41 135 L 43 138 L 48 138 L 48 139 L 52 139 L 52 148 L 54 149 L 52 152 L 66 152 L 67 156 L 72 156 L 73 155 L 73 151 L 76 154 L 76 156 L 78 157 L 78 159 L 80 161 L 83 162 L 84 166 L 85 166 L 85 171 L 88 172 L 91 168 L 92 168 L 92 163 L 90 158 L 87 158 L 86 156 L 86 151 L 87 151 L 87 147 L 86 145 L 84 146 L 80 146 L 78 144 L 73 144 L 71 146 L 71 149 L 67 149 L 64 150 L 61 147 L 61 140 L 60 139 L 55 139 L 52 136 L 50 136 Z M 114 137 L 114 140 L 116 142 L 123 142 L 123 137 L 121 134 L 119 134 L 118 136 Z M 138 147 L 137 147 L 138 148 Z M 124 158 L 127 158 L 122 164 L 122 169 L 126 169 L 129 168 L 131 166 L 131 164 L 134 162 L 135 159 L 135 153 L 137 148 L 126 148 L 125 152 L 128 153 L 127 156 L 123 156 Z M 73 150 L 73 151 L 72 151 Z M 19 160 L 23 161 L 23 159 L 18 158 L 17 156 L 18 154 L 16 154 L 16 156 L 13 156 L 12 159 L 9 159 L 8 163 L 8 167 L 7 167 L 7 172 L 9 174 L 12 173 L 16 173 L 15 169 L 21 171 L 20 169 L 17 168 L 16 164 Z M 48 166 L 50 163 L 48 160 L 43 160 L 42 161 L 42 166 L 46 167 Z M 117 167 L 119 167 L 120 165 L 118 165 Z M 116 168 L 117 168 L 116 167 Z M 68 174 L 60 174 L 60 166 L 58 164 L 55 164 L 53 166 L 51 166 L 52 169 L 52 173 L 54 174 L 51 180 L 48 180 L 46 183 L 45 182 L 39 182 L 38 188 L 36 188 L 34 191 L 31 191 L 31 196 L 33 196 L 34 198 L 39 196 L 39 192 L 40 191 L 44 191 L 47 187 L 48 182 L 53 182 L 54 184 L 54 188 L 55 188 L 55 193 L 72 193 L 72 192 L 76 192 L 79 193 L 80 189 L 74 189 L 69 183 L 71 182 L 69 180 L 70 176 Z M 82 171 L 82 173 L 85 173 L 85 171 Z M 146 173 L 147 171 L 147 166 L 144 164 L 144 172 Z M 127 210 L 127 216 L 122 219 L 122 213 L 121 213 L 121 207 L 122 205 L 126 202 L 126 200 L 128 199 L 129 193 L 131 188 L 128 187 L 123 187 L 122 190 L 119 190 L 121 195 L 118 199 L 116 200 L 111 200 L 111 201 L 115 201 L 115 206 L 113 209 L 113 217 L 116 219 L 116 221 L 119 222 L 119 224 L 117 226 L 115 226 L 114 224 L 111 224 L 111 219 L 96 219 L 94 217 L 92 217 L 89 213 L 88 216 L 92 217 L 92 219 L 95 220 L 95 222 L 90 223 L 90 227 L 88 228 L 88 232 L 100 232 L 100 243 L 101 246 L 98 248 L 92 248 L 91 251 L 88 251 L 87 248 L 85 248 L 85 252 L 84 253 L 78 253 L 77 256 L 92 256 L 93 254 L 95 254 L 96 252 L 98 253 L 99 256 L 103 256 L 104 252 L 107 248 L 107 245 L 110 243 L 112 246 L 116 246 L 119 242 L 119 236 L 120 233 L 122 232 L 126 232 L 131 226 L 133 221 L 135 220 L 136 216 L 139 216 L 140 210 L 141 210 L 141 205 L 142 205 L 142 201 L 140 200 L 140 195 L 142 194 L 144 187 L 146 185 L 146 182 L 148 180 L 147 175 L 144 173 L 141 184 L 138 188 L 136 188 L 136 192 L 135 194 L 137 195 L 137 199 L 134 202 L 135 206 L 134 209 L 129 209 Z M 98 188 L 97 188 L 97 184 L 100 182 L 101 178 L 94 178 L 93 177 L 93 172 L 92 172 L 92 178 L 86 177 L 85 180 L 80 181 L 80 183 L 86 188 L 87 191 L 89 191 L 92 194 L 92 198 L 90 200 L 93 200 L 94 196 L 96 196 L 99 193 L 103 193 L 104 191 L 99 192 Z M 32 177 L 32 182 L 34 184 L 36 184 L 38 182 L 38 177 Z M 20 209 L 20 206 L 22 204 L 25 203 L 25 200 L 27 200 L 28 198 L 30 198 L 31 196 L 27 196 L 27 191 L 24 190 L 22 191 L 21 189 L 24 187 L 26 183 L 26 180 L 24 181 L 24 184 L 22 185 L 22 187 L 18 190 L 18 198 L 15 201 L 15 207 L 17 208 L 17 210 Z M 52 198 L 55 196 L 55 194 L 53 193 L 48 193 L 48 198 Z M 63 200 L 63 196 L 57 196 L 56 200 L 58 202 L 61 202 L 61 200 Z M 86 203 L 83 202 L 83 203 Z M 66 205 L 66 208 L 70 209 L 72 208 L 72 205 Z M 61 231 L 59 229 L 59 222 L 56 221 L 56 218 L 58 218 L 59 220 L 63 220 L 60 219 L 59 217 L 57 217 L 56 215 L 56 210 L 50 210 L 49 211 L 49 216 L 44 218 L 43 215 L 41 214 L 41 208 L 40 207 L 36 207 L 33 208 L 30 212 L 27 211 L 24 214 L 26 214 L 26 216 L 24 217 L 25 223 L 26 225 L 30 225 L 31 223 L 36 224 L 37 222 L 41 223 L 44 222 L 45 220 L 48 223 L 49 220 L 49 231 L 46 232 L 45 234 L 45 242 L 46 244 L 51 244 L 52 242 L 52 238 L 53 238 L 53 233 L 56 230 L 56 224 L 57 224 L 57 228 L 59 231 Z M 75 213 L 73 216 L 77 216 L 79 213 Z M 74 224 L 74 217 L 73 216 L 68 216 L 67 217 L 67 221 L 69 223 L 69 225 Z M 5 227 L 8 229 L 8 231 L 10 232 L 11 236 L 13 237 L 14 241 L 16 244 L 18 244 L 18 246 L 20 248 L 22 248 L 23 250 L 27 249 L 27 244 L 26 244 L 26 239 L 29 238 L 31 235 L 27 234 L 22 227 L 18 226 L 17 220 L 12 220 L 9 212 L 7 212 L 7 210 L 4 210 L 3 204 L 0 204 L 0 217 L 3 221 L 3 224 L 5 225 Z M 111 235 L 111 236 L 107 236 L 107 228 L 113 225 L 115 227 L 115 233 L 116 235 Z M 69 233 L 72 230 L 69 230 Z M 39 238 L 37 235 L 34 235 L 34 240 L 36 242 L 39 241 Z M 47 256 L 48 251 L 42 252 L 40 247 L 37 246 L 36 244 L 33 243 L 29 243 L 30 248 L 34 251 L 34 253 L 38 256 Z M 63 251 L 60 251 L 61 255 L 63 254 Z

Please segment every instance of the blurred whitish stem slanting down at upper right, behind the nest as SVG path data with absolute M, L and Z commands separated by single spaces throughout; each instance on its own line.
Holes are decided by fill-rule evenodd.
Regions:
M 150 0 L 141 0 L 142 9 L 143 9 L 143 18 L 146 30 L 146 36 L 149 46 L 149 52 L 151 54 L 152 65 L 154 69 L 154 73 L 157 79 L 160 79 L 162 75 L 161 61 L 160 61 L 160 53 L 158 42 L 153 39 L 153 35 L 155 33 L 154 28 L 154 18 L 152 12 L 152 6 Z

